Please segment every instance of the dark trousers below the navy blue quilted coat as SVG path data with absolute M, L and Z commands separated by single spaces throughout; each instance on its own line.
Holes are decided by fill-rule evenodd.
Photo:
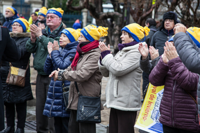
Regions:
M 68 133 L 69 117 L 54 117 L 56 133 Z

